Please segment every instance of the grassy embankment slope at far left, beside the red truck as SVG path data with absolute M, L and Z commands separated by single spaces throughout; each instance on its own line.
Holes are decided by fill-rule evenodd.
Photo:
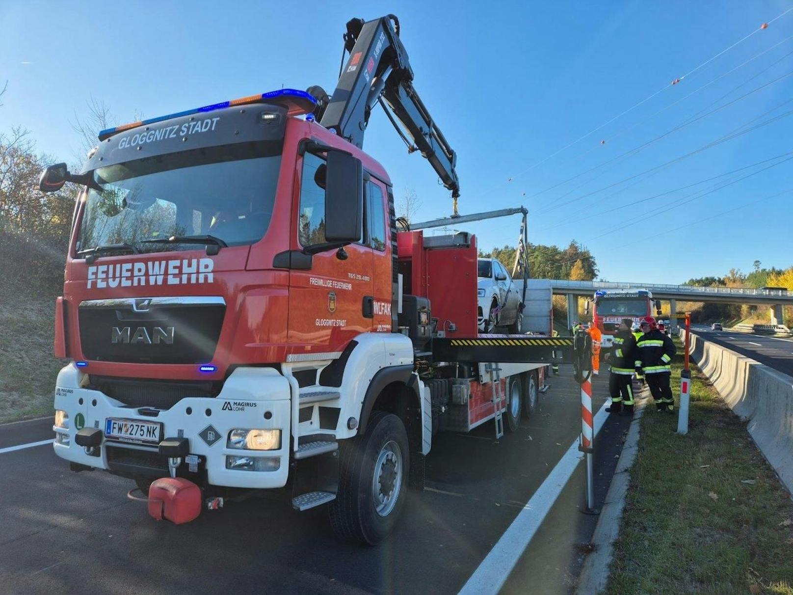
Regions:
M 52 355 L 55 300 L 3 292 L 0 300 L 0 423 L 52 413 L 63 360 Z

